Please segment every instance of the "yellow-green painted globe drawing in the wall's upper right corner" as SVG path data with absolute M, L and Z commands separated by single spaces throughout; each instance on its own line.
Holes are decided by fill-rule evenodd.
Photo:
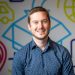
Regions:
M 68 4 L 69 1 L 72 5 Z M 71 11 L 71 14 L 69 14 L 69 12 L 68 12 L 69 10 Z M 65 14 L 66 14 L 67 18 L 70 21 L 75 22 L 75 0 L 65 0 L 65 2 L 64 2 L 64 11 L 65 11 Z

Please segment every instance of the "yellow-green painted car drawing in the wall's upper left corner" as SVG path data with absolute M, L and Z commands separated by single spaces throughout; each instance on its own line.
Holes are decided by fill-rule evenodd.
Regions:
M 11 18 L 9 17 L 11 14 Z M 0 22 L 8 24 L 15 19 L 15 13 L 12 8 L 5 1 L 0 1 Z

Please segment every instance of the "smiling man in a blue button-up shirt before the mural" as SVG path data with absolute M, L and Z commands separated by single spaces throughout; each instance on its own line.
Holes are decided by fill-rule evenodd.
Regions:
M 28 28 L 33 39 L 15 54 L 12 75 L 74 75 L 71 56 L 66 48 L 49 38 L 50 27 L 48 11 L 32 8 Z

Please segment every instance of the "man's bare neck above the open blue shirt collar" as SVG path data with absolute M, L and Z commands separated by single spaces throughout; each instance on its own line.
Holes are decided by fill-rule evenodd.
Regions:
M 46 47 L 46 44 L 47 44 L 47 41 L 48 41 L 48 37 L 45 38 L 45 39 L 36 39 L 36 38 L 33 38 L 33 40 L 35 41 L 36 45 L 41 48 L 41 50 L 43 51 Z

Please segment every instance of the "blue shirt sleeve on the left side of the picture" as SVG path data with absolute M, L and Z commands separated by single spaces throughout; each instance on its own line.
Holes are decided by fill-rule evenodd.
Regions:
M 23 54 L 17 52 L 14 56 L 12 63 L 12 75 L 25 75 L 24 74 L 24 57 Z

